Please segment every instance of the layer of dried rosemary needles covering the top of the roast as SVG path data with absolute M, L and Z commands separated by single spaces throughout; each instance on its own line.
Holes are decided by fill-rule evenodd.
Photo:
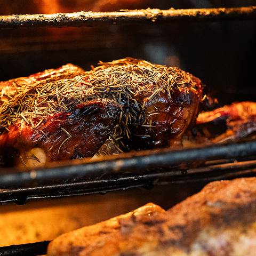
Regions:
M 138 100 L 139 93 L 150 101 L 161 92 L 171 97 L 174 87 L 182 90 L 186 86 L 197 86 L 194 77 L 179 68 L 133 58 L 100 62 L 98 67 L 92 67 L 90 71 L 79 70 L 79 74 L 70 73 L 67 69 L 59 75 L 42 77 L 40 81 L 27 77 L 7 81 L 7 84 L 9 90 L 3 85 L 1 87 L 0 83 L 0 133 L 8 129 L 10 124 L 19 122 L 36 128 L 42 119 L 78 103 L 105 98 L 118 102 L 123 109 L 120 125 L 109 141 L 122 136 L 129 138 L 127 125 L 131 123 L 154 127 L 145 124 L 145 118 L 140 120 L 145 101 Z

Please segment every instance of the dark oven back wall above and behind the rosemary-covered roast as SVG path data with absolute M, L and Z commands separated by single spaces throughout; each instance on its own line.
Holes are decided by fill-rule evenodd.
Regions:
M 256 5 L 256 1 L 217 0 L 90 0 L 86 4 L 78 0 L 15 1 L 14 4 L 9 0 L 0 3 L 0 15 Z M 0 80 L 66 63 L 88 70 L 99 60 L 133 57 L 179 66 L 202 79 L 221 104 L 254 101 L 255 30 L 255 20 L 0 30 Z

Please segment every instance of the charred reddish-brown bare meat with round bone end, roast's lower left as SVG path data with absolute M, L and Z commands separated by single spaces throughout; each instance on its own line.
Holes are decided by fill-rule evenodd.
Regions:
M 12 124 L 0 136 L 0 154 L 5 166 L 19 167 L 91 157 L 118 124 L 120 113 L 117 103 L 99 99 L 48 117 L 36 128 Z

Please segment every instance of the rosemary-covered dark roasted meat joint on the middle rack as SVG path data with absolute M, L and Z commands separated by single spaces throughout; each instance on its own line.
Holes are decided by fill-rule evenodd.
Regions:
M 30 166 L 31 158 L 41 164 L 34 148 L 44 153 L 42 162 L 53 162 L 169 147 L 211 104 L 193 75 L 132 58 L 87 72 L 66 65 L 2 82 L 0 89 L 6 166 Z

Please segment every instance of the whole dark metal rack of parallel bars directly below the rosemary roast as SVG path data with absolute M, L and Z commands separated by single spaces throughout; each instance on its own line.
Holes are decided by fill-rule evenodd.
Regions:
M 256 141 L 182 150 L 122 154 L 91 162 L 63 162 L 35 170 L 2 169 L 0 203 L 105 194 L 172 183 L 211 182 L 255 175 Z

